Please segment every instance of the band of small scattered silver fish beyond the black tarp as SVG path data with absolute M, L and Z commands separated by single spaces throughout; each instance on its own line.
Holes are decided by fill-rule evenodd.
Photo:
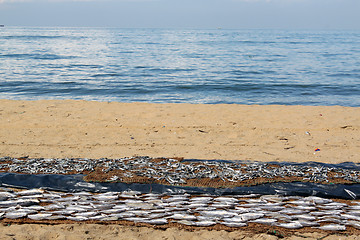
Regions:
M 298 177 L 304 181 L 329 182 L 343 179 L 360 182 L 360 171 L 323 165 L 283 164 L 244 161 L 181 161 L 134 157 L 122 159 L 30 159 L 0 158 L 0 171 L 27 174 L 69 174 L 93 172 L 96 168 L 105 173 L 123 171 L 104 181 L 122 181 L 124 177 L 147 177 L 165 180 L 171 185 L 186 184 L 189 179 L 221 179 L 223 182 L 241 182 L 257 178 L 273 179 Z M 330 179 L 331 178 L 331 179 Z

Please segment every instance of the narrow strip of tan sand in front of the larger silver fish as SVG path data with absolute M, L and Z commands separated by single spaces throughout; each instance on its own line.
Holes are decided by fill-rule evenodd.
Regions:
M 282 235 L 281 232 L 253 234 L 244 231 L 187 231 L 168 228 L 166 230 L 146 227 L 124 227 L 118 225 L 101 224 L 59 224 L 59 225 L 0 225 L 0 239 L 118 239 L 118 240 L 355 240 L 356 235 L 342 235 L 334 233 L 294 233 L 292 236 Z

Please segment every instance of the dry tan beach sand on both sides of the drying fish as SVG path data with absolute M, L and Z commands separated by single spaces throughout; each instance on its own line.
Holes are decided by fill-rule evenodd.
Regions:
M 320 151 L 315 152 L 316 148 Z M 0 100 L 2 157 L 135 155 L 359 162 L 360 108 Z M 360 239 L 333 233 L 326 236 L 302 233 L 289 239 Z M 0 239 L 247 238 L 276 237 L 244 231 L 163 231 L 114 225 L 0 226 Z

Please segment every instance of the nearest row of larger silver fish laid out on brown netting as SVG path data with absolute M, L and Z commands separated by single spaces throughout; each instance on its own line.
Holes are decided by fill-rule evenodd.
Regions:
M 0 219 L 130 221 L 151 225 L 360 229 L 360 201 L 278 195 L 192 196 L 136 191 L 62 193 L 0 188 Z

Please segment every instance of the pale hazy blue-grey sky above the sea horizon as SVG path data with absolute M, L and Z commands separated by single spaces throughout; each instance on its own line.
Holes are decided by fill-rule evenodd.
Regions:
M 360 29 L 360 0 L 0 0 L 0 24 Z

